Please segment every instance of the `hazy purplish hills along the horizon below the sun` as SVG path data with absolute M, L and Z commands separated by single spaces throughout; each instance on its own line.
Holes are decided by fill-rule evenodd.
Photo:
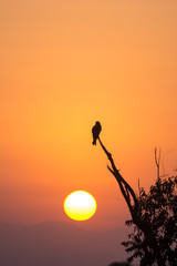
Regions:
M 127 231 L 88 231 L 74 223 L 43 222 L 35 225 L 0 223 L 0 260 L 2 266 L 107 266 L 123 262 L 126 254 L 121 242 Z M 97 255 L 96 255 L 97 254 Z

